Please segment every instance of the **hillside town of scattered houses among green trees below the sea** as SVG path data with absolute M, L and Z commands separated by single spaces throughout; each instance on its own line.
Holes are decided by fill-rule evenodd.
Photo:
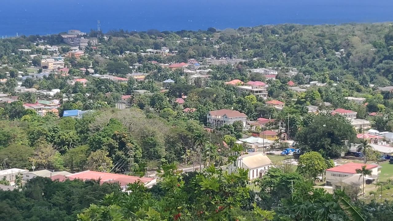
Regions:
M 68 204 L 51 197 L 80 188 L 91 201 L 64 220 L 117 220 L 107 206 L 127 201 L 119 220 L 354 220 L 348 207 L 387 220 L 367 211 L 393 200 L 393 31 L 335 27 L 345 37 L 282 25 L 0 40 L 0 203 L 43 188 Z M 326 205 L 338 217 L 314 219 Z

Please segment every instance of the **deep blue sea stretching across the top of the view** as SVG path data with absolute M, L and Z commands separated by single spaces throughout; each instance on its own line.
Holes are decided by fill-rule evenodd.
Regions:
M 0 37 L 80 29 L 181 30 L 393 20 L 393 0 L 2 0 Z

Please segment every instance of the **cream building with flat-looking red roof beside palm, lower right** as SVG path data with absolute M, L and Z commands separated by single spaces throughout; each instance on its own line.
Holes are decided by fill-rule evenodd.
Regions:
M 366 166 L 366 169 L 371 170 L 371 176 L 366 176 L 367 180 L 375 180 L 378 177 L 378 165 L 376 164 L 358 164 L 358 163 L 347 163 L 344 165 L 336 166 L 325 170 L 326 173 L 326 186 L 332 186 L 333 190 L 342 189 L 343 184 L 350 184 L 361 177 L 361 174 L 356 173 L 356 169 L 362 169 L 362 166 Z M 363 178 L 362 182 L 363 182 Z M 345 181 L 346 180 L 346 181 Z

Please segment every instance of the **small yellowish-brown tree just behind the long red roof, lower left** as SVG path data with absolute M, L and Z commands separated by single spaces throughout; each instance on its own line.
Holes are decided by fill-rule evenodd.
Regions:
M 93 171 L 110 171 L 113 167 L 113 162 L 108 155 L 108 151 L 103 149 L 90 153 L 90 156 L 87 158 L 86 168 Z

